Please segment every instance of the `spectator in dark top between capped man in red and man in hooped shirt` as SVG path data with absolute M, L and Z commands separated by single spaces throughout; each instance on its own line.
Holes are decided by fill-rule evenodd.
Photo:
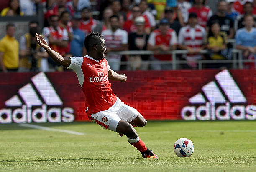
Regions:
M 169 21 L 169 26 L 173 30 L 175 30 L 176 34 L 179 34 L 179 30 L 182 27 L 178 20 L 174 20 L 174 11 L 171 7 L 166 7 L 164 10 L 164 18 L 166 18 Z

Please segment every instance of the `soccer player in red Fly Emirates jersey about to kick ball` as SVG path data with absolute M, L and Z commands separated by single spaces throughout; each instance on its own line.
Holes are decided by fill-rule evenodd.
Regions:
M 62 57 L 51 50 L 46 40 L 36 35 L 38 44 L 58 64 L 73 69 L 86 97 L 86 113 L 106 129 L 126 135 L 128 142 L 141 152 L 143 158 L 158 158 L 138 137 L 133 125 L 143 127 L 145 118 L 133 107 L 125 105 L 112 92 L 108 79 L 125 82 L 125 74 L 117 74 L 110 69 L 105 59 L 105 40 L 100 33 L 91 33 L 84 39 L 87 55 L 84 57 Z

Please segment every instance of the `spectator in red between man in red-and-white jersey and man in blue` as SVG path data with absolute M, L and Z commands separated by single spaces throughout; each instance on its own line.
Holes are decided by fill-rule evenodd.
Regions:
M 70 15 L 68 11 L 63 11 L 61 13 L 59 27 L 64 32 L 64 29 L 67 30 L 69 36 L 69 44 L 65 50 L 66 53 L 70 53 L 70 42 L 73 40 L 73 29 L 71 27 Z

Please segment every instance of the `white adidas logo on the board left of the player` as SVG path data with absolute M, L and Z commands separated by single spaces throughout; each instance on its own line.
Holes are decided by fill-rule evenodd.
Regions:
M 5 105 L 10 108 L 0 110 L 0 123 L 74 121 L 74 110 L 70 107 L 60 108 L 63 102 L 43 72 L 33 76 L 31 80 L 32 84 L 21 87 L 18 95 L 5 101 Z

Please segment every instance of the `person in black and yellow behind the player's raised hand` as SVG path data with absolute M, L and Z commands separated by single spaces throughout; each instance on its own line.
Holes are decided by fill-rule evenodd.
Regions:
M 39 33 L 38 23 L 31 21 L 28 24 L 29 33 L 20 38 L 20 67 L 19 72 L 47 72 L 48 54 L 44 48 L 36 43 L 36 33 Z M 47 40 L 47 38 L 45 38 Z

